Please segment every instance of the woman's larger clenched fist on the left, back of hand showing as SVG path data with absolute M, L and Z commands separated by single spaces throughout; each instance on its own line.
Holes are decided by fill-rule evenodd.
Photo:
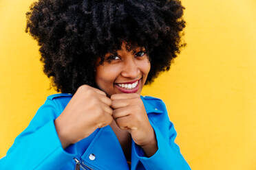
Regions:
M 63 148 L 86 138 L 113 120 L 111 99 L 91 86 L 80 86 L 54 124 Z

